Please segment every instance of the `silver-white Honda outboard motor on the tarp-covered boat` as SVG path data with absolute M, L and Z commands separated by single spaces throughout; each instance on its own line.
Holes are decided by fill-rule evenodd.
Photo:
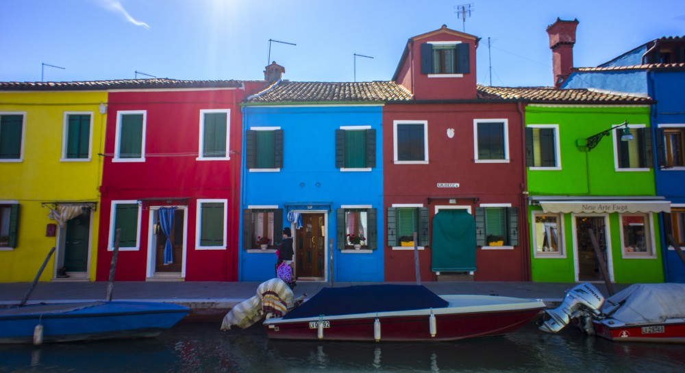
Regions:
M 597 287 L 590 283 L 577 285 L 566 292 L 564 301 L 559 307 L 544 311 L 549 318 L 540 325 L 540 330 L 547 333 L 557 333 L 564 329 L 566 324 L 569 324 L 571 318 L 580 316 L 584 308 L 597 316 L 603 303 L 604 296 L 597 290 Z

